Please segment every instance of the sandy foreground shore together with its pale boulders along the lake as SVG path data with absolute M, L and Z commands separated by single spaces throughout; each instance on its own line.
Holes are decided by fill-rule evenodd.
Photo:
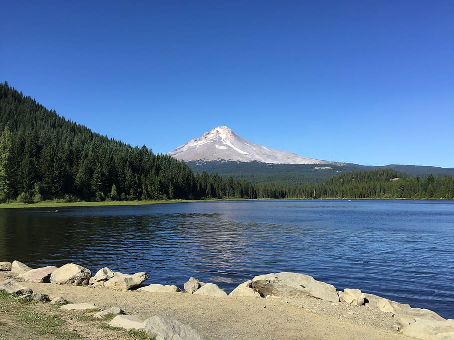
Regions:
M 93 317 L 114 314 L 110 326 L 143 330 L 155 339 L 454 339 L 454 320 L 433 311 L 359 289 L 337 291 L 299 273 L 259 275 L 229 294 L 194 277 L 183 289 L 144 286 L 147 279 L 146 273 L 107 267 L 92 276 L 72 263 L 32 269 L 19 261 L 0 262 L 2 291 L 63 303 L 68 311 L 99 309 Z M 109 339 L 99 330 L 84 337 Z

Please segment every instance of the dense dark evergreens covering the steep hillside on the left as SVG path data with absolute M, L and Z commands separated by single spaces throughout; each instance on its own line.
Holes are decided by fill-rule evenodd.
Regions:
M 0 84 L 0 202 L 256 198 L 247 181 L 92 132 Z

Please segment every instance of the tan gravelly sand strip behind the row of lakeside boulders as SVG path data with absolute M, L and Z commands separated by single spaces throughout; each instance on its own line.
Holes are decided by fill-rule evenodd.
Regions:
M 0 280 L 3 280 L 1 276 Z M 24 282 L 23 285 L 50 298 L 62 296 L 72 303 L 94 303 L 101 309 L 117 306 L 142 320 L 155 315 L 175 318 L 210 340 L 413 339 L 398 334 L 391 313 L 315 298 L 218 298 L 186 293 L 123 292 L 104 287 L 50 283 Z M 43 311 L 50 307 L 45 303 L 36 305 Z M 103 332 L 85 329 L 82 335 L 86 339 L 118 338 L 115 333 Z

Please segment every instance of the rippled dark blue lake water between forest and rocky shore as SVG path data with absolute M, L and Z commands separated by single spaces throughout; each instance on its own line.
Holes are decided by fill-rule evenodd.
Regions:
M 265 200 L 0 210 L 0 261 L 190 276 L 292 271 L 454 318 L 454 201 Z

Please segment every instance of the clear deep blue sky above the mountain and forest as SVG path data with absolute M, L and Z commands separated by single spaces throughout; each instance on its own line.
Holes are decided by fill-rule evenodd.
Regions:
M 454 1 L 2 1 L 0 81 L 131 145 L 219 125 L 305 157 L 454 167 Z

